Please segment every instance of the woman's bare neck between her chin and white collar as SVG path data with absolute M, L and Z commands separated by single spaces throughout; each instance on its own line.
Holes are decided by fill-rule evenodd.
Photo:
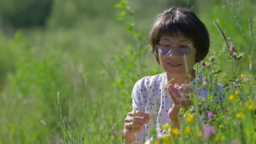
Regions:
M 192 69 L 192 71 L 189 72 L 189 75 L 187 74 L 187 72 L 185 72 L 183 76 L 181 76 L 181 74 L 167 75 L 167 82 L 169 82 L 172 78 L 174 78 L 174 80 L 171 81 L 171 84 L 173 85 L 189 83 L 190 81 L 195 79 L 195 70 Z

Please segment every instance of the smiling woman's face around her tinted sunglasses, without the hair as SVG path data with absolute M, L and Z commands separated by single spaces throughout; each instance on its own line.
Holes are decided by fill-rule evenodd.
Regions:
M 163 46 L 168 45 L 178 45 L 182 48 L 183 46 L 192 45 L 194 47 L 194 43 L 189 40 L 188 38 L 184 37 L 180 32 L 177 32 L 177 35 L 170 36 L 170 35 L 163 35 L 160 38 L 160 44 Z M 158 52 L 160 66 L 165 70 L 167 73 L 167 76 L 178 78 L 178 77 L 184 77 L 186 75 L 186 67 L 185 67 L 185 61 L 184 57 L 179 54 L 177 49 L 173 48 L 171 53 L 168 55 L 161 55 Z M 182 52 L 182 51 L 180 51 Z M 189 75 L 193 76 L 193 66 L 195 65 L 195 54 L 196 49 L 192 48 L 190 54 L 187 56 L 187 64 L 189 68 Z

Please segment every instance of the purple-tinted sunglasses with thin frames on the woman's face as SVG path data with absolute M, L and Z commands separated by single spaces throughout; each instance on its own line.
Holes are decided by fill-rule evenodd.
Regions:
M 181 43 L 179 45 L 169 45 L 169 44 L 161 44 L 158 43 L 156 45 L 158 53 L 164 56 L 168 56 L 170 54 L 173 54 L 174 50 L 175 52 L 178 51 L 180 56 L 188 56 L 192 51 L 192 45 L 188 43 Z

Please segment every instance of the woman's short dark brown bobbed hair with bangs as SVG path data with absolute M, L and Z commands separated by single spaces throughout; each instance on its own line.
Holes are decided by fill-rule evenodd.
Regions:
M 157 15 L 149 33 L 149 45 L 158 64 L 160 62 L 156 45 L 159 43 L 161 36 L 164 34 L 174 36 L 177 35 L 177 32 L 181 32 L 184 37 L 192 40 L 195 44 L 195 62 L 203 60 L 210 47 L 210 37 L 205 24 L 198 19 L 193 11 L 181 7 L 171 7 Z

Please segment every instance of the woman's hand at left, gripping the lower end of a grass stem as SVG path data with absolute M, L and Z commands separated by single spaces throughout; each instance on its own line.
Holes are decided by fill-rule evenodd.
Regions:
M 133 121 L 133 115 L 134 121 Z M 131 111 L 128 112 L 125 118 L 125 125 L 123 129 L 123 136 L 128 144 L 136 141 L 135 133 L 141 131 L 141 128 L 146 124 L 150 123 L 151 115 L 146 114 L 141 111 Z M 134 126 L 134 129 L 133 129 Z

